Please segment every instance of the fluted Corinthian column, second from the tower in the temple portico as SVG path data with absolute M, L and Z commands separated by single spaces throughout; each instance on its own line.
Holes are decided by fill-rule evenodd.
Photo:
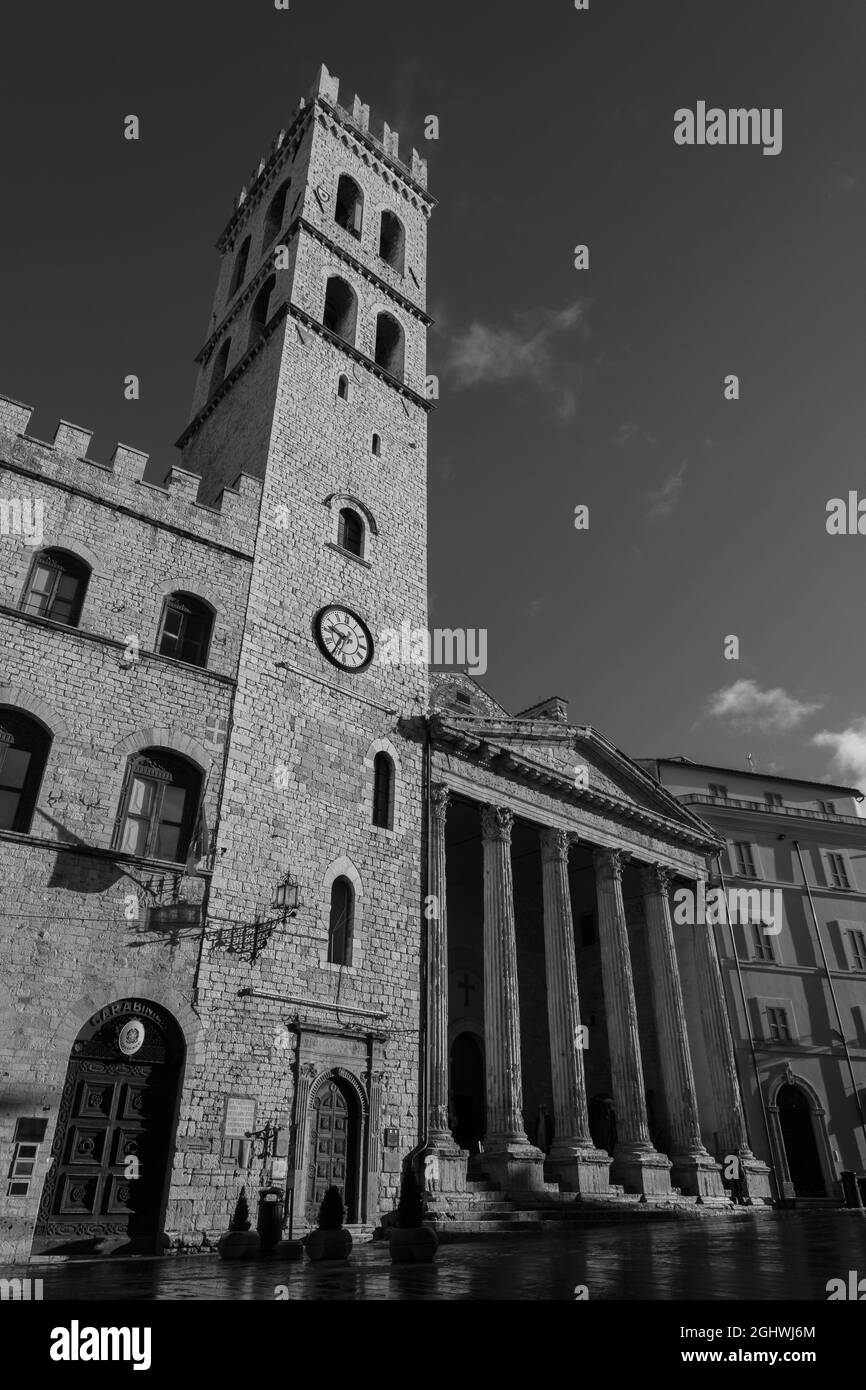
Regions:
M 523 1127 L 517 935 L 512 881 L 512 824 L 500 806 L 481 812 L 484 851 L 484 1045 L 487 1134 L 484 1166 L 509 1187 L 538 1187 L 544 1155 Z

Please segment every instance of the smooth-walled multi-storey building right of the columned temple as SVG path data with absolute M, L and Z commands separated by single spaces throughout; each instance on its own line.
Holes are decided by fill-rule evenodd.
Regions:
M 838 1202 L 841 1175 L 866 1170 L 863 795 L 685 758 L 641 763 L 726 841 L 713 926 L 752 1147 L 780 1198 Z

